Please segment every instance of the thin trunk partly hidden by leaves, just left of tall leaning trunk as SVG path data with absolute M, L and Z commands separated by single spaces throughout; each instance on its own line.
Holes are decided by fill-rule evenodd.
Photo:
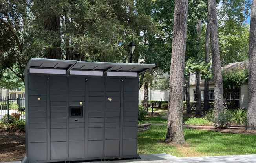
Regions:
M 205 62 L 210 62 L 210 28 L 209 23 L 206 24 L 206 32 L 205 32 Z M 210 70 L 210 67 L 207 67 L 207 70 Z M 205 94 L 204 94 L 204 103 L 203 103 L 203 111 L 209 111 L 209 81 L 205 79 Z

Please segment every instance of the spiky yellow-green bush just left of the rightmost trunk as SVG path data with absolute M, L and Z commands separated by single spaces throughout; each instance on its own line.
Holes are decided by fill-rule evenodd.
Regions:
M 232 121 L 236 124 L 246 124 L 247 121 L 247 110 L 238 108 L 232 112 Z

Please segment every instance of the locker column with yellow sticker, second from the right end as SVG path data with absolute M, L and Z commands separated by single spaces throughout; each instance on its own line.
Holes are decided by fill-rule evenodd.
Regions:
M 120 156 L 121 79 L 106 78 L 104 156 Z

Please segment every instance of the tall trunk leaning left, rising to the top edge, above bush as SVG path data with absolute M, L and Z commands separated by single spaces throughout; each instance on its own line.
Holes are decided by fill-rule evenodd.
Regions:
M 210 26 L 210 38 L 212 46 L 212 67 L 214 75 L 214 117 L 217 118 L 219 112 L 224 112 L 223 105 L 223 84 L 221 75 L 221 62 L 219 54 L 219 37 L 216 15 L 216 2 L 215 0 L 208 0 L 209 10 L 209 26 Z

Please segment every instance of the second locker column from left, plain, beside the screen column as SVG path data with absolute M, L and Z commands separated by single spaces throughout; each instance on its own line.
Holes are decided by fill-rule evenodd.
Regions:
M 67 77 L 50 76 L 51 160 L 67 159 Z

